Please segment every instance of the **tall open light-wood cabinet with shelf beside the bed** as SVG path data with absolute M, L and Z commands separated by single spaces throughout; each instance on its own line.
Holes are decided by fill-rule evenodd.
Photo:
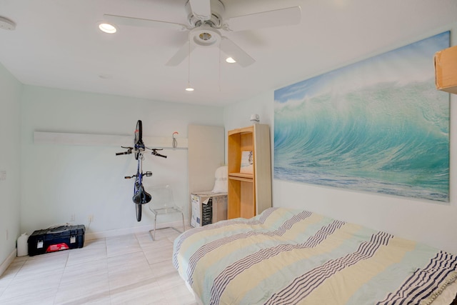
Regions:
M 228 132 L 227 218 L 251 218 L 271 207 L 270 129 L 254 124 Z M 245 156 L 252 151 L 252 170 L 240 172 Z M 249 170 L 248 170 L 249 171 Z

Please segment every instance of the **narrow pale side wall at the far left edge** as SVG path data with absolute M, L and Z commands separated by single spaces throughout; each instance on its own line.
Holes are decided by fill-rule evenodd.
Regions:
M 21 84 L 0 64 L 0 265 L 19 236 Z M 4 179 L 2 179 L 2 173 Z M 0 270 L 1 274 L 1 270 Z

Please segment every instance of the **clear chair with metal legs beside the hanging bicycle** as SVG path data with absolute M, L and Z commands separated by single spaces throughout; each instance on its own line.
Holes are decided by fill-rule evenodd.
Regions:
M 176 206 L 174 203 L 173 191 L 171 190 L 170 186 L 154 186 L 151 189 L 151 197 L 151 201 L 149 201 L 149 210 L 151 210 L 151 212 L 154 214 L 154 232 L 151 234 L 151 231 L 153 230 L 150 230 L 149 234 L 151 234 L 151 237 L 154 241 L 156 240 L 157 230 L 171 228 L 175 231 L 178 231 L 179 233 L 182 233 L 172 226 L 156 229 L 158 215 L 181 214 L 181 218 L 183 220 L 183 232 L 186 231 L 186 226 L 184 225 L 184 213 L 181 208 Z

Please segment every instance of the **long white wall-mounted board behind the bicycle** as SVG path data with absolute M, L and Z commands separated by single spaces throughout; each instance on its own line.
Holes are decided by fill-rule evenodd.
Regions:
M 34 131 L 35 144 L 66 144 L 89 146 L 133 146 L 134 136 L 113 134 L 72 134 L 65 132 Z M 173 137 L 144 136 L 144 145 L 151 148 L 173 148 Z M 176 149 L 187 149 L 186 138 L 176 138 Z

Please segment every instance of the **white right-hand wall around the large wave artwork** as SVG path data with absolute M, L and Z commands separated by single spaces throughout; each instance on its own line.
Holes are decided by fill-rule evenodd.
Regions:
M 453 29 L 457 30 L 457 29 Z M 436 31 L 436 34 L 440 33 Z M 417 40 L 425 37 L 418 37 Z M 457 42 L 457 31 L 451 31 L 451 41 Z M 455 42 L 453 44 L 456 44 Z M 395 49 L 395 48 L 392 48 Z M 431 59 L 433 60 L 433 59 Z M 338 67 L 336 67 L 338 68 Z M 324 73 L 326 71 L 323 71 Z M 303 76 L 301 81 L 312 76 Z M 260 114 L 261 123 L 271 127 L 273 151 L 273 93 L 242 101 L 224 109 L 226 130 L 250 125 L 250 114 Z M 242 115 L 240 115 L 242 114 Z M 451 94 L 451 202 L 438 204 L 395 196 L 333 189 L 273 179 L 273 206 L 307 209 L 336 219 L 350 221 L 406 239 L 413 239 L 457 254 L 457 95 Z M 273 160 L 273 158 L 272 158 Z M 273 165 L 273 164 L 272 164 Z

